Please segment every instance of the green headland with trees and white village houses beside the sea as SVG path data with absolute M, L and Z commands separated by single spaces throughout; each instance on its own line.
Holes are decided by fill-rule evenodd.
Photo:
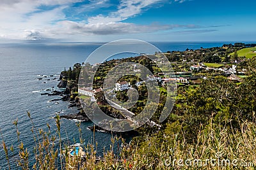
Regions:
M 152 60 L 148 59 L 145 54 L 142 54 L 138 57 L 113 59 L 102 64 L 93 64 L 93 66 L 88 63 L 83 63 L 83 66 L 90 68 L 86 73 L 83 73 L 82 64 L 77 63 L 73 68 L 70 67 L 67 71 L 61 73 L 61 81 L 58 87 L 67 87 L 68 92 L 66 92 L 66 94 L 70 96 L 70 105 L 68 107 L 77 106 L 79 108 L 80 112 L 76 114 L 75 118 L 86 121 L 89 120 L 86 114 L 84 114 L 80 102 L 84 102 L 86 106 L 89 106 L 86 112 L 90 112 L 91 110 L 90 107 L 92 106 L 90 103 L 97 103 L 100 109 L 104 110 L 111 117 L 131 118 L 140 113 L 143 107 L 145 107 L 147 103 L 146 84 L 150 82 L 157 83 L 161 100 L 164 100 L 163 96 L 167 95 L 166 85 L 168 83 L 175 83 L 175 85 L 181 89 L 192 90 L 198 87 L 200 88 L 200 84 L 205 80 L 211 81 L 212 78 L 216 76 L 223 76 L 226 80 L 239 85 L 239 83 L 243 82 L 244 78 L 252 73 L 252 68 L 248 67 L 246 62 L 250 61 L 250 59 L 256 55 L 256 48 L 253 46 L 256 45 L 235 43 L 234 45 L 200 48 L 198 50 L 186 49 L 184 52 L 155 52 L 154 55 L 148 54 Z M 248 53 L 241 53 L 241 51 L 243 52 L 244 50 Z M 172 67 L 164 66 L 162 69 L 159 69 L 158 66 L 164 65 L 164 57 L 168 59 L 170 62 L 169 65 Z M 124 73 L 134 73 L 135 76 L 121 76 L 115 82 L 112 81 L 114 79 L 110 78 L 109 80 L 112 86 L 104 87 L 103 84 L 107 73 L 111 68 L 118 66 L 118 64 L 122 62 L 137 63 L 121 68 Z M 143 67 L 145 66 L 150 69 L 152 74 L 143 74 Z M 92 77 L 95 71 L 96 73 Z M 92 80 L 93 84 L 90 83 Z M 78 85 L 79 83 L 81 84 Z M 127 101 L 127 92 L 129 89 L 137 90 L 140 96 L 134 107 L 125 110 L 127 114 L 120 113 L 116 108 L 109 106 L 109 103 L 113 102 L 111 99 L 114 100 L 114 98 L 123 103 Z M 109 99 L 106 99 L 104 96 L 105 92 L 108 94 Z M 65 97 L 65 99 L 67 99 L 67 97 Z M 175 106 L 179 108 L 179 103 L 182 103 L 179 94 L 176 97 L 176 101 L 177 104 L 175 104 Z M 122 108 L 119 104 L 116 104 L 116 106 Z M 74 118 L 72 115 L 61 115 L 61 117 Z M 157 120 L 152 120 L 152 122 L 154 122 L 155 125 L 159 125 Z

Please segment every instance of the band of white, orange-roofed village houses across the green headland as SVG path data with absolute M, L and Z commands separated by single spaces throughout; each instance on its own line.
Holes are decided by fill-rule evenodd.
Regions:
M 186 64 L 187 62 L 182 62 L 182 64 Z M 191 62 L 189 62 L 191 63 Z M 136 64 L 134 64 L 136 65 Z M 135 69 L 136 68 L 136 69 Z M 140 69 L 138 69 L 138 65 L 134 66 L 134 71 L 139 72 Z M 175 81 L 178 86 L 186 86 L 186 85 L 194 85 L 194 84 L 200 84 L 202 80 L 206 80 L 207 76 L 204 75 L 196 75 L 195 73 L 200 73 L 200 72 L 210 72 L 215 71 L 217 75 L 223 75 L 227 76 L 227 79 L 230 81 L 234 81 L 236 83 L 239 83 L 242 80 L 241 77 L 246 75 L 246 69 L 243 69 L 241 71 L 237 71 L 237 60 L 232 64 L 231 67 L 226 68 L 226 67 L 207 67 L 205 66 L 204 62 L 200 62 L 194 65 L 190 66 L 190 70 L 188 72 L 176 72 L 174 74 L 167 74 L 167 73 L 157 73 L 155 75 L 148 75 L 146 81 L 157 81 L 161 84 L 161 86 L 164 87 L 166 83 L 169 81 Z M 127 89 L 131 89 L 132 87 L 140 87 L 141 85 L 145 85 L 146 81 L 136 81 L 134 84 L 132 84 L 129 81 L 118 81 L 115 83 L 115 88 L 113 91 L 124 91 Z M 101 92 L 103 89 L 102 87 L 93 89 L 92 87 L 87 87 L 87 88 L 79 88 L 78 93 L 80 95 L 84 96 L 90 96 L 92 97 L 92 101 L 96 101 L 94 95 L 97 92 Z

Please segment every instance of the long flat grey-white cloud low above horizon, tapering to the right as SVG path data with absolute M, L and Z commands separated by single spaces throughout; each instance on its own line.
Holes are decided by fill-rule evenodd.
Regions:
M 27 31 L 29 39 L 67 38 L 70 36 L 106 36 L 166 31 L 173 28 L 192 28 L 193 25 L 137 25 L 124 22 L 84 24 L 64 20 L 51 29 Z M 196 25 L 194 27 L 197 27 Z

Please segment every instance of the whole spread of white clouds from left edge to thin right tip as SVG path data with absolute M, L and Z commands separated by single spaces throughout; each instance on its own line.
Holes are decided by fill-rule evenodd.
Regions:
M 113 34 L 137 34 L 173 29 L 191 28 L 195 25 L 138 25 L 125 23 L 127 18 L 140 15 L 154 4 L 166 0 L 122 0 L 116 11 L 108 15 L 96 15 L 84 18 L 81 22 L 68 20 L 64 9 L 70 4 L 83 0 L 1 0 L 0 3 L 0 38 L 10 39 L 64 39 L 77 35 L 97 36 Z M 178 0 L 174 0 L 178 1 Z M 179 0 L 182 3 L 184 0 Z M 52 6 L 52 10 L 38 10 L 39 6 Z M 108 0 L 94 0 L 79 6 L 74 15 L 88 9 L 109 6 Z M 71 9 L 72 10 L 72 9 Z M 99 10 L 100 11 L 100 10 Z M 80 18 L 81 19 L 81 18 Z

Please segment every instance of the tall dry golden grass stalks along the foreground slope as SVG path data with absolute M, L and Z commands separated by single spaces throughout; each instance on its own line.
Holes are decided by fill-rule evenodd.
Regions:
M 30 113 L 28 116 L 30 118 Z M 13 124 L 17 127 L 18 121 L 15 120 Z M 211 122 L 206 127 L 198 127 L 201 130 L 195 143 L 186 141 L 181 128 L 178 132 L 166 129 L 161 134 L 145 137 L 141 143 L 124 145 L 118 153 L 113 148 L 116 143 L 124 143 L 124 140 L 113 136 L 111 149 L 101 159 L 96 155 L 97 142 L 94 141 L 83 145 L 86 153 L 84 157 L 69 156 L 68 146 L 61 145 L 60 117 L 56 117 L 56 132 L 52 132 L 49 125 L 48 131 L 42 131 L 35 129 L 33 120 L 31 124 L 35 141 L 33 153 L 24 148 L 17 129 L 17 164 L 20 169 L 255 169 L 253 165 L 256 165 L 256 122 L 243 122 L 240 129 L 232 132 L 223 125 Z M 80 125 L 77 126 L 81 134 Z M 80 142 L 84 143 L 82 136 Z M 9 157 L 13 146 L 6 146 L 4 139 L 3 150 L 9 165 L 7 168 L 10 169 Z M 29 157 L 35 158 L 33 167 L 29 167 Z M 198 160 L 194 163 L 195 159 Z M 207 159 L 220 160 L 220 163 L 230 160 L 230 164 L 225 161 L 225 164 L 206 164 Z M 233 160 L 237 160 L 236 166 L 232 164 Z

